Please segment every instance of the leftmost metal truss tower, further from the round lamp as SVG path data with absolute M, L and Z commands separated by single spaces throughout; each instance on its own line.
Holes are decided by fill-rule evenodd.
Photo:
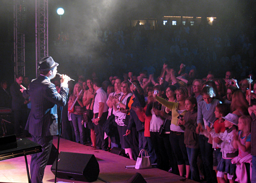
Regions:
M 25 75 L 25 0 L 14 0 L 14 79 Z

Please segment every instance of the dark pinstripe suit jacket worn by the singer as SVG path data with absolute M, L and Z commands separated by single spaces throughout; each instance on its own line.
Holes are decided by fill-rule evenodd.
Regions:
M 60 94 L 49 78 L 40 75 L 34 79 L 23 97 L 30 96 L 31 111 L 26 130 L 33 136 L 54 136 L 58 134 L 57 105 L 65 106 L 69 89 L 61 87 Z

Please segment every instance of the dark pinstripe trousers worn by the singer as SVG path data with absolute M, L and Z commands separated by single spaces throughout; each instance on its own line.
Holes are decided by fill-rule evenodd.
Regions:
M 31 157 L 30 161 L 30 175 L 31 183 L 42 183 L 45 167 L 50 156 L 50 150 L 52 148 L 53 136 L 33 136 L 32 140 L 37 144 L 42 145 L 42 152 L 35 153 Z

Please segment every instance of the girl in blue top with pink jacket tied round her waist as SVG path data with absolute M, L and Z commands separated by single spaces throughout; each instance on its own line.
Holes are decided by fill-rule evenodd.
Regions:
M 241 183 L 251 182 L 251 123 L 251 117 L 241 116 L 238 119 L 238 134 L 234 134 L 233 146 L 234 148 L 238 148 L 238 156 L 231 160 L 231 163 L 236 163 L 236 181 Z

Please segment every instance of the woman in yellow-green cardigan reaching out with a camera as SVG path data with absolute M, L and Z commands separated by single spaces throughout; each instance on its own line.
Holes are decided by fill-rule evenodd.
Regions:
M 163 98 L 160 98 L 155 93 L 153 94 L 153 98 L 155 100 L 157 100 L 163 106 L 169 108 L 172 111 L 172 121 L 170 125 L 170 143 L 172 145 L 174 155 L 177 160 L 180 176 L 185 175 L 184 170 L 186 168 L 186 178 L 189 178 L 190 166 L 188 161 L 187 149 L 184 144 L 184 131 L 178 125 L 178 119 L 183 119 L 185 113 L 187 112 L 185 108 L 185 99 L 187 97 L 188 89 L 186 87 L 177 88 L 177 102 L 169 102 Z

